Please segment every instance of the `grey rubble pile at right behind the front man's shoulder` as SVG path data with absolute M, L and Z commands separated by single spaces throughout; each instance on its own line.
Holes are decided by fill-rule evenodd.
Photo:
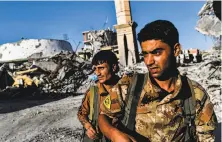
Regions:
M 220 50 L 210 50 L 203 54 L 203 62 L 188 64 L 178 69 L 206 89 L 214 104 L 218 121 L 222 122 Z

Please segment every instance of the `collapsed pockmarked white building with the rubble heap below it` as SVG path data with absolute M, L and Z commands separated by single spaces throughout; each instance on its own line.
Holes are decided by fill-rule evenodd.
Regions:
M 67 41 L 26 39 L 3 44 L 0 50 L 1 97 L 24 95 L 23 90 L 27 95 L 82 93 L 85 88 L 78 89 L 92 72 L 90 62 L 78 57 Z

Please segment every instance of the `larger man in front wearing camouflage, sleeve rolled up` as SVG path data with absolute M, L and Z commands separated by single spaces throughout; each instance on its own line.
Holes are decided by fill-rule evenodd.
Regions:
M 217 124 L 213 104 L 203 87 L 177 70 L 181 45 L 175 26 L 153 21 L 140 31 L 138 40 L 149 73 L 133 77 L 127 96 L 119 99 L 125 109 L 101 106 L 102 133 L 113 142 L 213 142 Z M 123 116 L 116 116 L 117 129 L 108 119 L 118 110 Z

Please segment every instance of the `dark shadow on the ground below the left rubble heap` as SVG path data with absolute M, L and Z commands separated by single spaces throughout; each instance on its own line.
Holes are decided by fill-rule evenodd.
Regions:
M 77 96 L 74 93 L 41 93 L 37 89 L 13 88 L 0 92 L 0 114 L 10 113 L 49 102 L 58 101 L 68 96 Z

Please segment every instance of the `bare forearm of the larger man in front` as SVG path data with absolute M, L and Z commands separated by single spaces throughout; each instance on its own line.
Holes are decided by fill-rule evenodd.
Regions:
M 100 114 L 98 118 L 99 128 L 101 132 L 113 142 L 135 142 L 136 140 L 124 132 L 119 131 L 113 127 L 108 117 Z

